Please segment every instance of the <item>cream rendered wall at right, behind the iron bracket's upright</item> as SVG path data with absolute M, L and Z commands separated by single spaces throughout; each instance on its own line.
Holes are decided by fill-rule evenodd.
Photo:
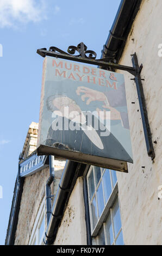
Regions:
M 161 81 L 162 58 L 158 45 L 162 43 L 162 1 L 144 0 L 135 19 L 120 64 L 132 66 L 130 54 L 136 52 L 147 104 L 155 150 L 154 162 L 147 156 L 136 86 L 132 75 L 124 72 L 134 164 L 129 164 L 129 174 L 117 172 L 123 237 L 126 245 L 162 244 L 162 199 L 158 200 L 161 175 Z M 123 73 L 123 71 L 119 71 Z M 135 102 L 132 104 L 131 102 Z M 145 168 L 142 168 L 144 167 Z

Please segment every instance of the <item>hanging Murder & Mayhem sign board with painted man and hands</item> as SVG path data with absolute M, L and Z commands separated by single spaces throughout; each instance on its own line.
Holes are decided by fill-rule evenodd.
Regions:
M 123 75 L 46 57 L 37 153 L 127 172 L 133 160 Z

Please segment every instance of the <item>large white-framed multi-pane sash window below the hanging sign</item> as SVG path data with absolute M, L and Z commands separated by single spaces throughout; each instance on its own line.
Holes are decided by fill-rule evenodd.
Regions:
M 114 170 L 91 166 L 87 175 L 93 245 L 123 245 Z

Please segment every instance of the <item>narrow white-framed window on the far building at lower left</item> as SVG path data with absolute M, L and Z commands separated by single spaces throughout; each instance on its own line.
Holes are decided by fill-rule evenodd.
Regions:
M 30 236 L 29 245 L 43 245 L 45 236 L 45 200 L 43 199 Z

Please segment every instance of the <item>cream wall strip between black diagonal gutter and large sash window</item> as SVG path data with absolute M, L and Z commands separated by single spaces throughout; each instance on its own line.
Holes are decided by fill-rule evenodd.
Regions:
M 83 180 L 77 179 L 54 245 L 86 245 Z

